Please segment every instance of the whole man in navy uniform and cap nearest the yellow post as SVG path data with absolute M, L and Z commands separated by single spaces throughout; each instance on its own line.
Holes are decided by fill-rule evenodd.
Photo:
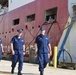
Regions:
M 35 46 L 37 45 L 37 55 L 39 60 L 39 71 L 40 75 L 43 75 L 44 68 L 46 68 L 47 63 L 49 62 L 51 52 L 51 44 L 48 36 L 45 34 L 45 28 L 41 27 L 41 34 L 36 37 Z M 35 53 L 36 53 L 35 52 Z

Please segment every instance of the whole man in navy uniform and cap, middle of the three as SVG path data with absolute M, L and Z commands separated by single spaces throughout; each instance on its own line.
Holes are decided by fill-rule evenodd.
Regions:
M 18 35 L 14 36 L 11 40 L 11 51 L 12 51 L 12 70 L 11 73 L 14 73 L 16 63 L 18 65 L 18 75 L 22 75 L 22 66 L 25 54 L 25 41 L 22 37 L 22 29 L 17 30 Z

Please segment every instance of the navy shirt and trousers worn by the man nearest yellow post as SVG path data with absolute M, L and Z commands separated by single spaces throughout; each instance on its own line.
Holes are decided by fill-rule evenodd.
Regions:
M 48 44 L 50 43 L 50 40 L 47 35 L 38 35 L 35 43 L 37 43 L 38 47 L 38 60 L 39 60 L 39 71 L 44 71 L 44 68 L 46 67 L 47 63 L 49 62 L 48 58 Z

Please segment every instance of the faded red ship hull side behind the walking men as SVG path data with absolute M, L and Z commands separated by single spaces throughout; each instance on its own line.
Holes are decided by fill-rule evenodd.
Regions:
M 19 28 L 23 29 L 26 47 L 33 45 L 35 36 L 39 31 L 39 27 L 44 23 L 45 11 L 55 7 L 57 8 L 56 22 L 53 24 L 48 35 L 51 40 L 53 50 L 54 46 L 57 46 L 59 43 L 62 36 L 61 30 L 64 29 L 69 17 L 68 0 L 36 0 L 0 16 L 0 37 L 3 40 L 5 50 L 8 50 L 10 40 L 14 35 L 16 35 L 16 31 Z M 30 14 L 35 14 L 35 20 L 26 22 L 26 16 Z M 13 26 L 12 21 L 17 18 L 20 18 L 20 23 Z M 50 25 L 51 23 L 44 24 L 46 32 Z

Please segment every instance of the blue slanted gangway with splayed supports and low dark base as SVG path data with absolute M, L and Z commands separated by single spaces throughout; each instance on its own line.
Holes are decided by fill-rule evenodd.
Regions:
M 73 69 L 75 69 L 76 68 L 76 63 L 72 62 L 72 57 L 71 57 L 70 53 L 68 53 L 67 50 L 64 48 L 64 46 L 66 44 L 66 41 L 67 41 L 67 38 L 69 36 L 69 33 L 70 33 L 71 29 L 72 29 L 72 26 L 73 26 L 73 21 L 71 21 L 71 23 L 70 23 L 70 25 L 69 25 L 69 27 L 67 29 L 67 32 L 65 34 L 65 37 L 63 39 L 63 42 L 61 44 L 60 50 L 59 50 L 58 55 L 57 55 L 57 61 L 59 60 L 60 55 L 62 53 L 63 61 L 60 62 L 60 66 L 62 66 L 62 67 L 73 67 Z M 65 52 L 69 55 L 70 60 L 71 60 L 70 62 L 66 62 Z

